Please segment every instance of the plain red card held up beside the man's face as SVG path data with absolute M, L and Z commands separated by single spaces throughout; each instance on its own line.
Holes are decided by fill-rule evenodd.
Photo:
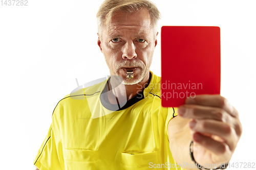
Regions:
M 163 107 L 179 107 L 197 94 L 220 94 L 220 28 L 163 26 Z

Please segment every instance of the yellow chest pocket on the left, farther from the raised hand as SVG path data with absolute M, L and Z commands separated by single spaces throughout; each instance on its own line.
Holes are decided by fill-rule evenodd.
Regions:
M 96 151 L 88 149 L 65 149 L 65 169 L 96 169 Z

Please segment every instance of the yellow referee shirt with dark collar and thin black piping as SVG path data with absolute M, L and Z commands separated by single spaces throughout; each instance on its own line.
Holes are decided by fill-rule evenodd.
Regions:
M 182 169 L 169 168 L 176 163 L 167 126 L 177 113 L 161 106 L 160 77 L 151 72 L 147 87 L 123 106 L 105 98 L 106 83 L 59 101 L 34 164 L 40 170 Z

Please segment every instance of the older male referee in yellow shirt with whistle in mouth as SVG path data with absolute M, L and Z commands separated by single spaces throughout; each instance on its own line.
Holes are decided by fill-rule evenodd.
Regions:
M 179 109 L 161 107 L 160 78 L 150 71 L 156 6 L 106 0 L 97 18 L 111 77 L 57 104 L 34 164 L 40 170 L 225 168 L 242 134 L 225 98 L 197 95 Z

